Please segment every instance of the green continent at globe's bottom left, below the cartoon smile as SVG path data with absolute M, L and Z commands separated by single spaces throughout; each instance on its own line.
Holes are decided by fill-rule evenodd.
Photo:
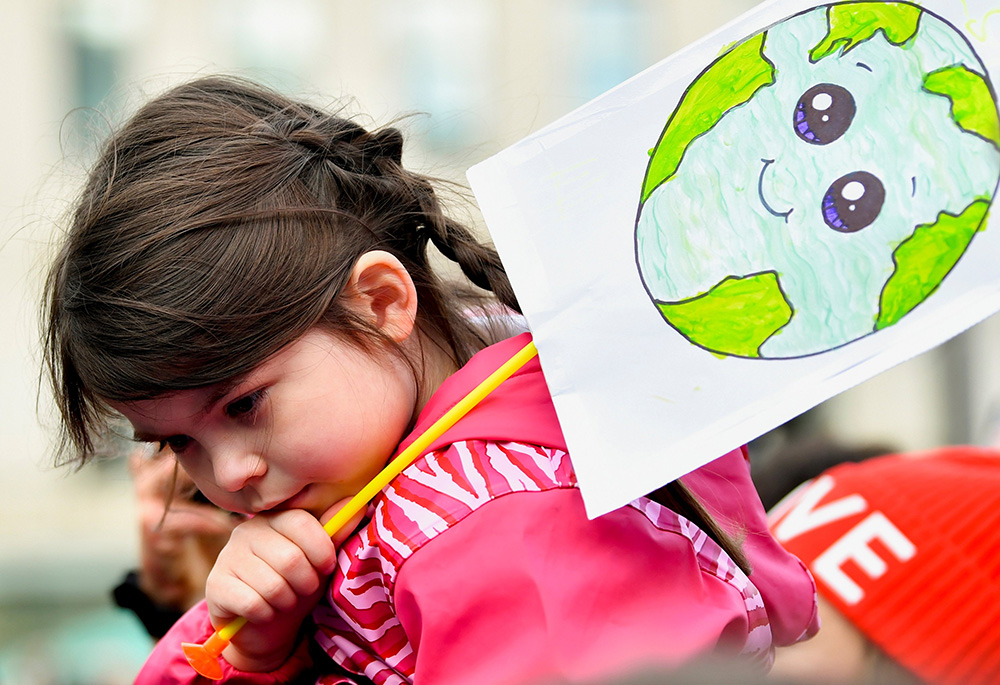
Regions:
M 759 357 L 764 341 L 792 318 L 773 271 L 729 276 L 698 297 L 656 304 L 694 344 L 739 357 Z

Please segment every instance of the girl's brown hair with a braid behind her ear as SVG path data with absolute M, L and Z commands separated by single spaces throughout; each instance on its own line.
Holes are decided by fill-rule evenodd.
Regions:
M 338 297 L 371 250 L 410 273 L 418 330 L 456 365 L 491 342 L 463 314 L 483 293 L 444 284 L 427 247 L 520 311 L 500 259 L 402 167 L 402 147 L 395 128 L 368 131 L 235 78 L 142 107 L 106 143 L 46 283 L 63 452 L 92 454 L 105 401 L 228 381 L 314 326 L 376 349 Z

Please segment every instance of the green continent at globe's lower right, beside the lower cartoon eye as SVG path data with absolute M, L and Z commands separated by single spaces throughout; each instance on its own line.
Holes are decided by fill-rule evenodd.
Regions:
M 941 212 L 933 224 L 917 226 L 893 252 L 896 270 L 882 289 L 875 330 L 899 321 L 924 301 L 955 266 L 976 231 L 986 225 L 988 199 L 974 201 L 958 216 Z

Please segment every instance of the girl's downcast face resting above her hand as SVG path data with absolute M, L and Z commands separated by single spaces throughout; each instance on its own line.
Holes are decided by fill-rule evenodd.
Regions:
M 218 506 L 318 518 L 385 466 L 417 389 L 398 356 L 313 329 L 234 382 L 113 406 L 136 439 L 169 446 Z

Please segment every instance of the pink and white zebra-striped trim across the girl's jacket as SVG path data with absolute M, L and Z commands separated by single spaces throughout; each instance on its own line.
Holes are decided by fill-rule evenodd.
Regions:
M 565 452 L 521 443 L 459 442 L 410 465 L 374 500 L 368 523 L 341 548 L 327 602 L 313 612 L 319 644 L 337 664 L 376 685 L 412 682 L 416 655 L 393 606 L 403 562 L 497 497 L 566 487 L 577 483 Z M 662 530 L 691 540 L 706 572 L 742 593 L 751 620 L 744 651 L 769 656 L 767 614 L 746 575 L 686 519 L 645 498 L 631 506 Z

